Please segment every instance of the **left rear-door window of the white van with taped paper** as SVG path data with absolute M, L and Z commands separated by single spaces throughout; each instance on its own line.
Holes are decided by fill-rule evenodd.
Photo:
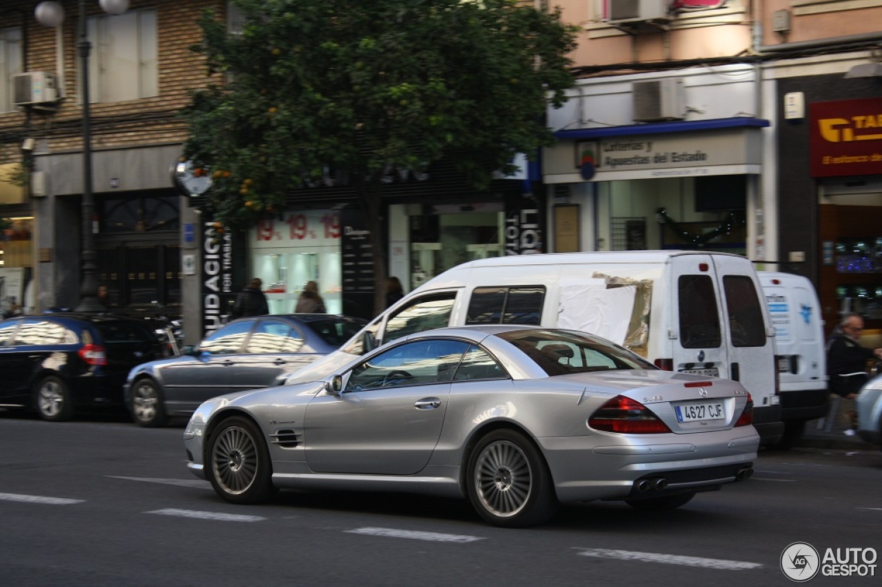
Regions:
M 680 344 L 684 348 L 721 345 L 720 312 L 714 281 L 709 275 L 681 275 L 679 290 Z

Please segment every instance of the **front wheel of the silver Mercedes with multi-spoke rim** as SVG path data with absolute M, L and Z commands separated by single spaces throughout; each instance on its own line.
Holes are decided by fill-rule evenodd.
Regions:
M 206 473 L 214 491 L 230 503 L 261 503 L 278 491 L 263 435 L 241 416 L 222 421 L 212 433 Z

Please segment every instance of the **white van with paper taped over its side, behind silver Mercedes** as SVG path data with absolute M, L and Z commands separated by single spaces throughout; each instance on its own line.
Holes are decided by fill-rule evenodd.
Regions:
M 416 288 L 340 351 L 288 383 L 330 375 L 374 346 L 444 326 L 527 323 L 587 331 L 660 368 L 741 382 L 764 443 L 784 425 L 774 345 L 757 273 L 744 256 L 621 251 L 501 256 L 461 264 Z

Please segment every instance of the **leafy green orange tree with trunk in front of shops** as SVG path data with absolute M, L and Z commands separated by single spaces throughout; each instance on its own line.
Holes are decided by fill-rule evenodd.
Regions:
M 234 0 L 241 31 L 200 19 L 218 82 L 192 93 L 184 156 L 213 178 L 226 227 L 278 213 L 292 191 L 345 173 L 369 223 L 385 306 L 382 175 L 452 160 L 476 188 L 553 137 L 577 28 L 516 0 Z

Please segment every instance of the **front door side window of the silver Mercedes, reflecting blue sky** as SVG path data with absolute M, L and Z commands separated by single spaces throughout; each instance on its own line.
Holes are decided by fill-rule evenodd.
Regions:
M 354 368 L 345 391 L 448 383 L 467 346 L 459 340 L 443 339 L 396 346 Z

